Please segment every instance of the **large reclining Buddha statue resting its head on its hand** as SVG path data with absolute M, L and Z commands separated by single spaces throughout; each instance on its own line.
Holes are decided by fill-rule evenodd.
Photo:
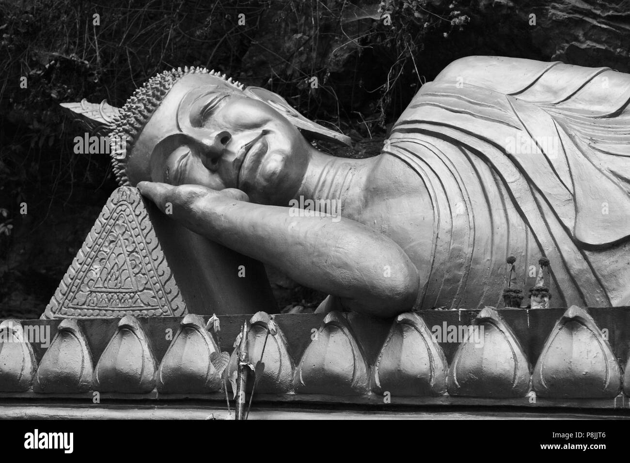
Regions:
M 608 68 L 466 57 L 421 87 L 381 154 L 346 159 L 312 140 L 348 137 L 277 94 L 186 68 L 105 123 L 124 140 L 120 185 L 326 292 L 318 311 L 389 317 L 500 305 L 510 255 L 530 285 L 551 261 L 555 306 L 630 304 L 629 101 L 630 76 Z M 336 207 L 314 214 L 317 200 Z

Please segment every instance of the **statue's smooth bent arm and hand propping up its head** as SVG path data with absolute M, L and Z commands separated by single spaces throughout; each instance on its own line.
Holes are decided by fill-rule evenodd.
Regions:
M 148 182 L 138 188 L 163 212 L 171 203 L 173 219 L 188 229 L 336 295 L 349 309 L 393 316 L 416 300 L 418 272 L 403 249 L 354 220 L 292 217 L 288 207 L 246 202 L 239 190 Z

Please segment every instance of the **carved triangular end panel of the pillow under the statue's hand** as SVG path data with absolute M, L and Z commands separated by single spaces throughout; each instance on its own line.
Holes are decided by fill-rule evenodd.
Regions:
M 42 318 L 185 313 L 139 191 L 121 186 L 107 200 Z

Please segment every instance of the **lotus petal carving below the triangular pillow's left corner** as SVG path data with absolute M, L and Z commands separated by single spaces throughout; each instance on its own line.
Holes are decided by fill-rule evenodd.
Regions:
M 86 392 L 92 386 L 92 355 L 74 319 L 64 319 L 35 376 L 37 392 Z

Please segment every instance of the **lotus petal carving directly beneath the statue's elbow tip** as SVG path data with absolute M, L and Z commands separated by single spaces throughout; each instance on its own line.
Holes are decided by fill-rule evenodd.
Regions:
M 372 370 L 372 391 L 392 396 L 439 396 L 449 365 L 418 314 L 396 317 Z

